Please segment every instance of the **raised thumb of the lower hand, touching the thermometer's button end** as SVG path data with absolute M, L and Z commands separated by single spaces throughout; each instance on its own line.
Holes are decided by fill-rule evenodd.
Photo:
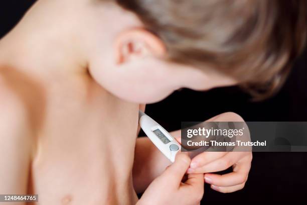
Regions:
M 171 182 L 174 182 L 174 184 L 178 183 L 179 185 L 190 166 L 190 162 L 191 159 L 187 154 L 178 152 L 175 158 L 175 162 L 163 172 L 161 177 L 165 177 L 168 181 L 171 180 Z

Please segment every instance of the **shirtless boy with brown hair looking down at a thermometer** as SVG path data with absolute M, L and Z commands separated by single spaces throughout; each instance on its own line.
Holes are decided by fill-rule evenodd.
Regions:
M 203 153 L 191 164 L 179 154 L 165 170 L 159 150 L 136 140 L 139 104 L 181 87 L 276 90 L 302 49 L 304 4 L 39 0 L 0 41 L 0 193 L 133 204 L 134 189 L 160 175 L 139 203 L 193 204 L 204 173 L 218 191 L 242 188 L 251 153 Z M 228 175 L 208 173 L 231 165 Z

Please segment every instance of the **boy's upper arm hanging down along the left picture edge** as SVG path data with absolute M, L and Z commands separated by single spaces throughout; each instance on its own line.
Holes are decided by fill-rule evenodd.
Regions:
M 27 114 L 4 89 L 0 98 L 0 194 L 27 194 L 31 153 Z

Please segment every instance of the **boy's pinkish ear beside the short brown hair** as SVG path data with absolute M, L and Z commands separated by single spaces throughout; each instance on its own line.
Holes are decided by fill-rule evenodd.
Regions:
M 129 29 L 115 39 L 115 60 L 117 64 L 145 56 L 162 57 L 166 54 L 164 43 L 145 29 Z

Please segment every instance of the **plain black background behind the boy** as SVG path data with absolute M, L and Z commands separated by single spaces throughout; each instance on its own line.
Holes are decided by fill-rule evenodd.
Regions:
M 3 1 L 0 37 L 21 19 L 33 0 Z M 300 57 L 281 91 L 262 102 L 252 102 L 236 87 L 207 92 L 176 91 L 165 100 L 148 105 L 146 113 L 167 130 L 180 129 L 182 121 L 205 121 L 223 112 L 235 112 L 245 121 L 307 121 L 307 53 Z M 243 190 L 219 193 L 205 186 L 203 203 L 227 201 L 291 201 L 306 204 L 307 153 L 253 153 L 252 168 Z

